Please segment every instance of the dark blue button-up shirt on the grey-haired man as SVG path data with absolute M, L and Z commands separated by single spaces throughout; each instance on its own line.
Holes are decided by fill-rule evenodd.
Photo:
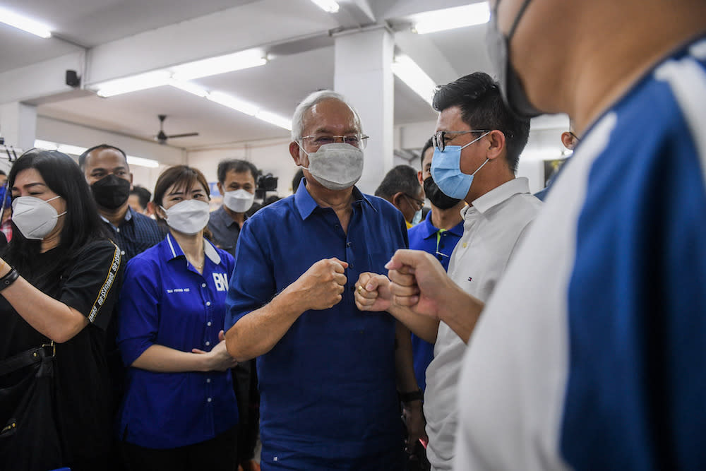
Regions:
M 356 188 L 353 194 L 347 234 L 333 209 L 319 207 L 301 183 L 296 194 L 246 220 L 238 240 L 226 328 L 317 261 L 349 263 L 341 302 L 305 311 L 257 359 L 263 470 L 328 470 L 360 458 L 369 458 L 361 463 L 371 469 L 395 469 L 387 467 L 402 443 L 395 319 L 359 311 L 353 294 L 360 273 L 386 273 L 385 263 L 407 247 L 407 229 L 387 201 Z

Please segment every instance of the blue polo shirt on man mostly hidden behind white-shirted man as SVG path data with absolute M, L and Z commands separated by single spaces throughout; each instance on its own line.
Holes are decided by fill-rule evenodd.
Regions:
M 463 235 L 463 220 L 447 231 L 431 224 L 431 211 L 426 213 L 426 219 L 409 229 L 409 248 L 423 250 L 436 256 L 444 270 L 448 270 L 448 261 L 451 253 Z M 412 334 L 412 354 L 414 354 L 414 376 L 421 390 L 426 389 L 426 367 L 434 358 L 434 345 L 426 340 L 421 340 Z

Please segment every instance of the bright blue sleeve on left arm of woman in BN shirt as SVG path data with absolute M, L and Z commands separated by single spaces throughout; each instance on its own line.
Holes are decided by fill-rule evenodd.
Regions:
M 156 263 L 141 257 L 128 262 L 118 304 L 118 347 L 126 366 L 131 366 L 157 338 L 161 286 Z

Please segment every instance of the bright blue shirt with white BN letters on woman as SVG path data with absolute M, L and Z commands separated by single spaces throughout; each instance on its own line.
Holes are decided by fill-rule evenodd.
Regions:
M 204 239 L 203 275 L 171 234 L 128 262 L 118 346 L 126 366 L 151 345 L 208 352 L 218 343 L 233 258 Z M 234 427 L 230 371 L 155 373 L 129 367 L 119 437 L 146 448 L 200 443 Z

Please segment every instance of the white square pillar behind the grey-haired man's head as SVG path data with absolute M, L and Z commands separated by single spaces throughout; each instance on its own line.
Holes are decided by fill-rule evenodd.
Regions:
M 385 28 L 345 32 L 335 38 L 334 89 L 344 95 L 360 115 L 363 132 L 370 136 L 358 187 L 372 194 L 393 167 L 395 42 Z

